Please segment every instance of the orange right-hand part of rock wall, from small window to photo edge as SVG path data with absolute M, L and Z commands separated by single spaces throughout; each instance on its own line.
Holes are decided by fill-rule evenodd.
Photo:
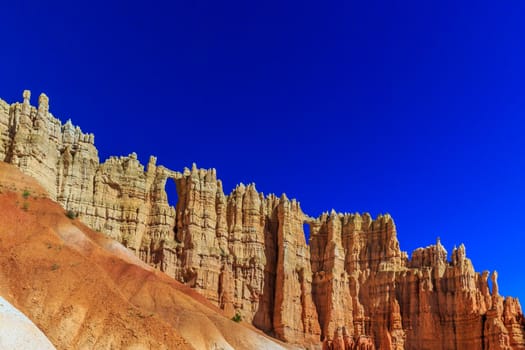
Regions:
M 332 212 L 311 228 L 313 295 L 327 348 L 525 348 L 519 302 L 499 295 L 496 272 L 489 290 L 489 273 L 475 272 L 463 245 L 448 261 L 438 239 L 409 260 L 389 215 Z

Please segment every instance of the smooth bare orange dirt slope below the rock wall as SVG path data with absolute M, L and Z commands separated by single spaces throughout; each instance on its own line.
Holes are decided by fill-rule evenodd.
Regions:
M 2 162 L 0 296 L 59 350 L 296 349 L 224 317 L 193 289 L 68 218 L 33 178 Z M 2 324 L 1 300 L 0 349 L 54 348 L 27 322 Z

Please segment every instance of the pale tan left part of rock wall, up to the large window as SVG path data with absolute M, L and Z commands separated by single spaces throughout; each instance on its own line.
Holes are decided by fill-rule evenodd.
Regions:
M 23 97 L 12 105 L 0 100 L 0 160 L 38 179 L 90 227 L 136 252 L 172 236 L 175 211 L 164 185 L 175 172 L 157 167 L 154 157 L 144 171 L 134 153 L 101 164 L 93 134 L 71 121 L 62 125 L 49 113 L 46 95 L 40 95 L 37 108 L 29 104 L 29 91 Z

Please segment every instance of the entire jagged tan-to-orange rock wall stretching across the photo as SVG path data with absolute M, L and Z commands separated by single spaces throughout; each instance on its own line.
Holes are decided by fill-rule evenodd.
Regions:
M 0 160 L 66 209 L 228 314 L 281 340 L 324 349 L 525 349 L 517 299 L 475 272 L 463 246 L 399 248 L 389 215 L 305 215 L 254 184 L 224 193 L 214 169 L 176 172 L 135 154 L 100 163 L 92 134 L 0 100 Z M 176 208 L 165 184 L 175 181 Z M 303 224 L 310 226 L 307 244 Z

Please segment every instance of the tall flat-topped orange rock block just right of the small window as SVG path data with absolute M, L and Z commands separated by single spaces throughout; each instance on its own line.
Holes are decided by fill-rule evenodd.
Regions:
M 392 218 L 372 220 L 368 214 L 332 211 L 311 221 L 310 233 L 313 295 L 323 325 L 322 339 L 333 343 L 335 334 L 342 332 L 354 343 L 372 343 L 371 348 L 371 338 L 402 346 L 403 329 L 388 327 L 395 324 L 391 318 L 399 318 L 393 309 L 393 305 L 399 307 L 392 294 L 395 287 L 388 284 L 397 271 L 406 269 L 407 261 L 399 250 Z M 377 341 L 374 345 L 386 346 Z

